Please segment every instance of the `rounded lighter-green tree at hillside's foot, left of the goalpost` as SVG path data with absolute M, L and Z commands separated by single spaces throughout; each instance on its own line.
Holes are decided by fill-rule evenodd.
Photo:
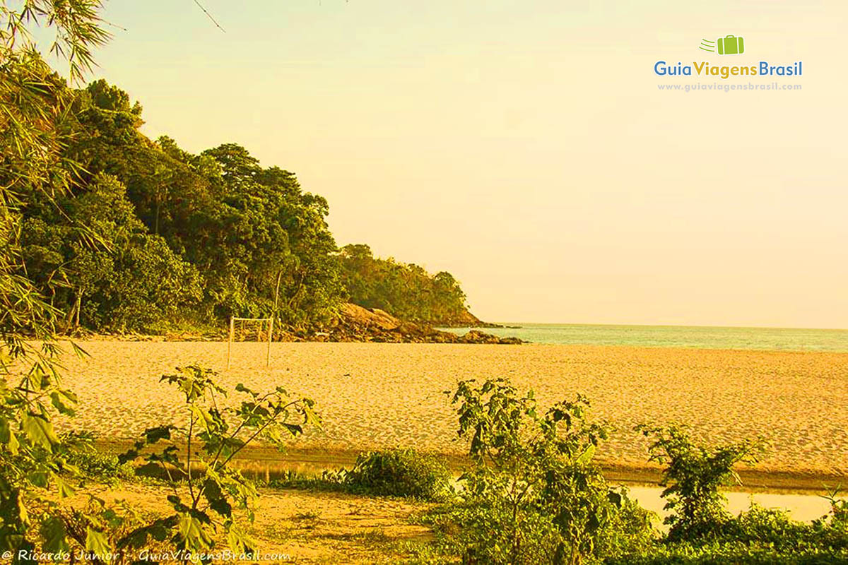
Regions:
M 135 215 L 123 185 L 98 174 L 86 191 L 31 206 L 25 214 L 24 257 L 36 284 L 48 289 L 60 273 L 63 287 L 51 302 L 80 323 L 103 330 L 144 330 L 172 322 L 202 297 L 197 269 L 182 261 Z M 103 246 L 86 244 L 85 231 Z

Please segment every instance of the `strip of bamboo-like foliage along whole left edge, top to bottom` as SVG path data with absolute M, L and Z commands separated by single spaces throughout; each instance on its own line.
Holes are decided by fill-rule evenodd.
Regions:
M 62 154 L 72 97 L 43 62 L 29 28 L 56 31 L 52 51 L 67 58 L 72 80 L 91 66 L 91 49 L 107 34 L 99 26 L 99 3 L 92 0 L 9 4 L 0 3 L 0 547 L 14 551 L 18 562 L 17 551 L 34 545 L 32 520 L 40 521 L 42 537 L 64 542 L 44 495 L 48 487 L 62 496 L 69 492 L 59 471 L 70 467 L 51 414 L 72 413 L 75 401 L 61 387 L 55 363 L 59 310 L 25 269 L 21 211 L 36 195 L 49 201 L 67 193 L 80 170 Z M 46 510 L 31 517 L 33 501 Z

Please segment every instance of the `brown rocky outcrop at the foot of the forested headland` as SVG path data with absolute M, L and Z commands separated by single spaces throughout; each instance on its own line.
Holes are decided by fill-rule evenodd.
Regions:
M 310 336 L 310 339 L 390 343 L 523 343 L 516 337 L 498 337 L 477 330 L 471 330 L 465 335 L 433 330 L 429 326 L 404 322 L 378 308 L 365 308 L 351 303 L 343 304 L 338 319 L 325 332 Z

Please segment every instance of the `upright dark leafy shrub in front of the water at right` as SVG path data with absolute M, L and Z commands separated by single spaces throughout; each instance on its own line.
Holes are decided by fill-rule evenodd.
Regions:
M 657 428 L 640 424 L 636 430 L 653 438 L 650 461 L 665 465 L 661 486 L 665 487 L 662 496 L 667 500 L 666 508 L 671 511 L 665 520 L 671 526 L 669 539 L 695 540 L 717 535 L 732 518 L 719 488 L 741 485 L 734 466 L 756 463 L 762 445 L 743 440 L 725 446 L 697 446 L 687 429 L 676 425 Z

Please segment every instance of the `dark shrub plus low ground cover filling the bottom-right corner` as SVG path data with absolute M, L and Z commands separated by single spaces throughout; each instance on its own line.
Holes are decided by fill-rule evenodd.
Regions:
M 634 565 L 829 565 L 848 563 L 848 502 L 838 492 L 827 498 L 831 511 L 812 523 L 797 522 L 789 512 L 756 504 L 734 517 L 719 491 L 740 484 L 734 465 L 754 463 L 762 451 L 756 442 L 698 446 L 686 430 L 638 426 L 653 436 L 651 459 L 665 464 L 662 496 L 671 529 L 650 551 L 622 554 L 609 563 Z

